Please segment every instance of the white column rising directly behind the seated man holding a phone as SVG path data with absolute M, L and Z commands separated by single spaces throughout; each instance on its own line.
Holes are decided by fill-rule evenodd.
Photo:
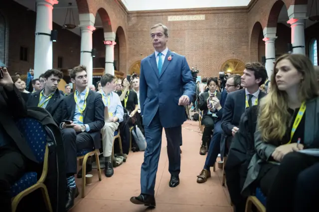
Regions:
M 93 82 L 92 33 L 95 30 L 95 17 L 92 13 L 79 14 L 81 28 L 80 64 L 86 66 L 88 85 Z

